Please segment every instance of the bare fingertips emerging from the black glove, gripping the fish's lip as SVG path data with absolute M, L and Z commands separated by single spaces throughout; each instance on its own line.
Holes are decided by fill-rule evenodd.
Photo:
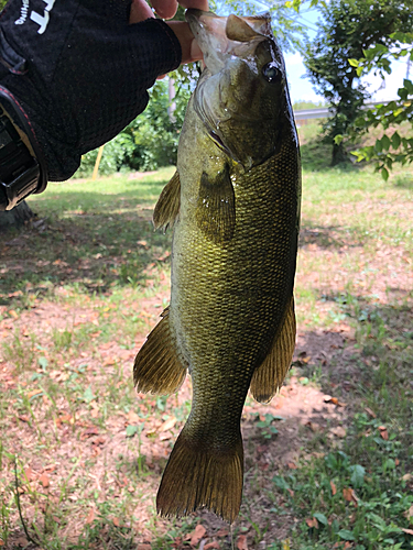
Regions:
M 162 19 L 172 19 L 177 10 L 177 4 L 183 8 L 196 8 L 208 11 L 208 0 L 152 0 L 153 9 Z M 139 23 L 145 19 L 154 18 L 154 13 L 145 0 L 133 0 L 130 13 L 130 23 Z M 176 34 L 182 48 L 182 63 L 196 62 L 203 58 L 203 53 L 196 43 L 189 25 L 184 21 L 169 21 L 166 24 Z

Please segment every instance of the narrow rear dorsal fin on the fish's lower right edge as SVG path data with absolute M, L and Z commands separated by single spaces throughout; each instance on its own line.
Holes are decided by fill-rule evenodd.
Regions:
M 261 365 L 256 369 L 251 380 L 251 393 L 260 403 L 269 403 L 282 385 L 290 369 L 295 348 L 294 297 L 291 297 L 281 332 Z

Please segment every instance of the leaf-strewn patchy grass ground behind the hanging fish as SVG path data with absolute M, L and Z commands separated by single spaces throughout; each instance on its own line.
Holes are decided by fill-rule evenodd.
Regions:
M 384 183 L 369 168 L 330 169 L 320 150 L 315 166 L 306 150 L 315 130 L 304 130 L 297 349 L 280 395 L 268 406 L 247 400 L 232 538 L 239 549 L 405 550 L 411 176 Z M 169 300 L 171 234 L 154 233 L 151 216 L 172 174 L 50 184 L 31 199 L 37 223 L 3 239 L 0 548 L 230 548 L 213 514 L 155 514 L 189 381 L 169 398 L 137 396 L 131 383 L 134 354 Z

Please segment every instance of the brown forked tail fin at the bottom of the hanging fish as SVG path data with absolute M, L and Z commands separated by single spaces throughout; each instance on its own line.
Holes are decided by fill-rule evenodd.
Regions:
M 242 498 L 243 449 L 241 435 L 230 449 L 218 451 L 187 437 L 176 440 L 162 476 L 156 509 L 164 517 L 187 516 L 206 507 L 232 524 Z

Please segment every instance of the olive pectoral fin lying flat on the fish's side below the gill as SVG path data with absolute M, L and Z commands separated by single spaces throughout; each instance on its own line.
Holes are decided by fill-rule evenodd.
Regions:
M 230 241 L 236 227 L 236 198 L 229 167 L 214 179 L 200 176 L 196 220 L 200 230 L 215 243 Z

